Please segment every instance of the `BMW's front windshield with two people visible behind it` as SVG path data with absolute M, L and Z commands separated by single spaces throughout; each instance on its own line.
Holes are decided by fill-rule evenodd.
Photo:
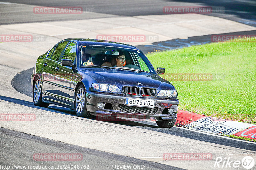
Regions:
M 154 67 L 139 50 L 106 46 L 81 46 L 80 52 L 82 67 L 104 66 L 102 68 L 115 67 L 118 69 L 155 73 Z

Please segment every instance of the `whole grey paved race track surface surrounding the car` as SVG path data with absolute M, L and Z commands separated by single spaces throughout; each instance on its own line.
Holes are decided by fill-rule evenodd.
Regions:
M 83 8 L 83 13 L 79 15 L 37 15 L 32 12 L 36 6 L 78 6 Z M 168 17 L 172 17 L 166 15 L 164 18 L 164 6 L 211 6 L 225 9 L 225 12 L 212 12 L 204 15 L 178 14 L 175 15 L 177 18 L 173 15 L 176 21 L 173 21 L 172 24 L 183 24 L 184 27 L 180 26 L 179 28 L 184 29 L 178 30 L 175 36 L 161 35 L 161 31 L 170 26 Z M 37 107 L 31 98 L 30 85 L 30 75 L 37 56 L 45 53 L 60 39 L 68 38 L 69 35 L 77 36 L 81 33 L 83 36 L 87 36 L 87 33 L 96 35 L 96 33 L 115 32 L 116 30 L 119 31 L 115 32 L 116 34 L 131 30 L 137 31 L 134 34 L 139 31 L 145 31 L 146 33 L 143 33 L 147 34 L 149 32 L 147 27 L 148 29 L 155 28 L 152 32 L 158 35 L 161 41 L 135 44 L 144 53 L 211 43 L 211 36 L 219 34 L 219 32 L 220 34 L 256 35 L 255 1 L 2 0 L 0 15 L 0 36 L 1 34 L 30 33 L 42 35 L 44 38 L 38 42 L 0 43 L 0 114 L 36 115 L 36 121 L 0 121 L 0 169 L 7 169 L 1 167 L 4 165 L 10 166 L 12 169 L 45 169 L 16 166 L 47 165 L 55 166 L 51 169 L 87 169 L 88 165 L 88 169 L 112 170 L 129 169 L 121 168 L 121 166 L 130 165 L 132 167 L 130 169 L 197 170 L 216 169 L 215 159 L 217 160 L 218 157 L 223 160 L 230 158 L 232 161 L 241 161 L 244 156 L 256 158 L 255 142 L 180 127 L 158 128 L 156 123 L 151 120 L 105 122 L 95 118 L 77 117 L 73 110 L 56 105 L 50 105 L 48 108 Z M 191 17 L 191 21 L 187 17 Z M 116 18 L 120 23 L 116 22 Z M 166 19 L 166 22 L 158 22 L 157 18 Z M 87 23 L 87 20 L 90 20 L 89 24 L 82 25 Z M 133 24 L 135 20 L 136 24 Z M 208 28 L 214 21 L 218 23 L 216 29 Z M 82 23 L 81 28 L 76 29 L 75 25 L 79 25 L 79 22 Z M 139 22 L 144 25 L 140 25 Z M 206 27 L 197 26 L 197 23 L 200 23 L 201 26 L 206 25 Z M 207 24 L 209 24 L 208 27 Z M 190 31 L 193 34 L 187 31 L 187 27 L 191 27 Z M 200 29 L 201 31 L 206 29 L 206 31 L 201 33 Z M 207 30 L 211 33 L 208 33 Z M 191 35 L 189 35 L 190 33 Z M 166 37 L 172 37 L 172 39 Z M 39 153 L 78 153 L 83 155 L 83 159 L 75 161 L 35 160 L 34 155 Z M 164 159 L 165 153 L 211 153 L 212 159 L 166 160 Z M 56 167 L 64 165 L 85 165 L 85 167 Z M 236 169 L 244 168 L 241 165 Z

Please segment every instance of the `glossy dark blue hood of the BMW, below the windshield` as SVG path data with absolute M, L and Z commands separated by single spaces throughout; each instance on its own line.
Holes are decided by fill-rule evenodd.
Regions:
M 119 88 L 122 88 L 122 86 L 138 86 L 156 89 L 174 89 L 169 81 L 161 78 L 157 74 L 106 68 L 81 68 L 80 70 L 84 74 L 85 80 L 91 81 L 91 83 L 112 84 Z M 141 83 L 141 85 L 137 83 Z

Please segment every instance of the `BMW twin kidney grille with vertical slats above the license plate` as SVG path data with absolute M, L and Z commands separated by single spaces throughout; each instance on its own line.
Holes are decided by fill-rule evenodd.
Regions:
M 138 87 L 134 86 L 124 86 L 123 87 L 123 92 L 125 95 L 129 96 L 138 96 L 139 93 L 143 97 L 153 97 L 156 95 L 156 89 L 152 88 L 142 88 L 141 91 Z

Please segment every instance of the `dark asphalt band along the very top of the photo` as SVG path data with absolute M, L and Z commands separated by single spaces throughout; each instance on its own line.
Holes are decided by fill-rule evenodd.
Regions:
M 247 25 L 256 26 L 256 2 L 254 0 L 1 0 L 1 2 L 17 4 L 0 3 L 2 4 L 0 6 L 0 24 L 15 24 L 42 21 L 65 21 L 110 17 L 108 15 L 164 15 L 164 6 L 210 6 L 212 7 L 212 9 L 215 10 L 212 13 L 205 15 L 225 18 Z M 84 12 L 83 14 L 65 15 L 64 17 L 63 15 L 34 14 L 33 7 L 35 6 L 78 6 L 82 7 Z M 224 11 L 217 11 L 216 8 L 224 9 Z M 105 16 L 100 14 L 105 14 Z

